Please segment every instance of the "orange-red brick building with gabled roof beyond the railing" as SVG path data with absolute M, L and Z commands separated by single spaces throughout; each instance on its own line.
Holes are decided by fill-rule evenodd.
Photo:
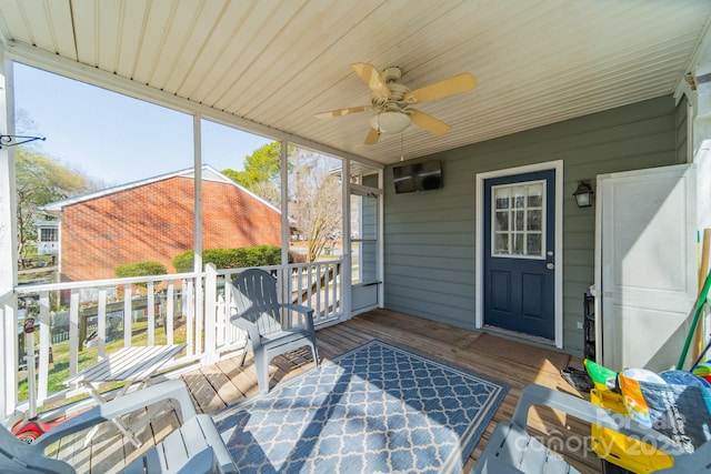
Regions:
M 193 169 L 57 201 L 61 281 L 116 278 L 122 264 L 172 259 L 193 245 Z M 281 245 L 281 212 L 216 169 L 202 168 L 202 248 Z

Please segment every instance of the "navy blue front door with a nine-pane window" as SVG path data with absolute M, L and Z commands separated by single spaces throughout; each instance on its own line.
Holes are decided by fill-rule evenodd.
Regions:
M 484 180 L 484 324 L 555 339 L 555 171 Z

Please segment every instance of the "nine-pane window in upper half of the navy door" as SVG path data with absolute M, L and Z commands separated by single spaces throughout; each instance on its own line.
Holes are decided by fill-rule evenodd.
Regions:
M 492 186 L 491 192 L 492 254 L 542 259 L 545 182 Z

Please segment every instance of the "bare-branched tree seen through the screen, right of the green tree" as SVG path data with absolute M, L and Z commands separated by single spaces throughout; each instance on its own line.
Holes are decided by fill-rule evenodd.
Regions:
M 303 150 L 294 152 L 292 158 L 293 194 L 289 214 L 296 228 L 306 233 L 307 259 L 313 262 L 341 233 L 341 182 L 339 175 L 331 172 L 339 162 Z

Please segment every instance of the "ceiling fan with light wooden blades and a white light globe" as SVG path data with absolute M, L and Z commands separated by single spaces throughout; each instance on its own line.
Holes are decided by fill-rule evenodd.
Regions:
M 381 133 L 400 133 L 410 123 L 414 123 L 432 134 L 443 135 L 450 129 L 447 123 L 411 105 L 465 92 L 477 87 L 474 77 L 469 72 L 464 72 L 423 88 L 410 90 L 405 84 L 398 82 L 402 77 L 400 68 L 385 68 L 382 74 L 367 62 L 356 62 L 351 64 L 351 68 L 370 88 L 371 105 L 349 107 L 317 113 L 314 117 L 317 119 L 329 119 L 331 117 L 348 115 L 349 113 L 378 110 L 378 113 L 370 119 L 370 132 L 365 138 L 365 144 L 377 143 Z

